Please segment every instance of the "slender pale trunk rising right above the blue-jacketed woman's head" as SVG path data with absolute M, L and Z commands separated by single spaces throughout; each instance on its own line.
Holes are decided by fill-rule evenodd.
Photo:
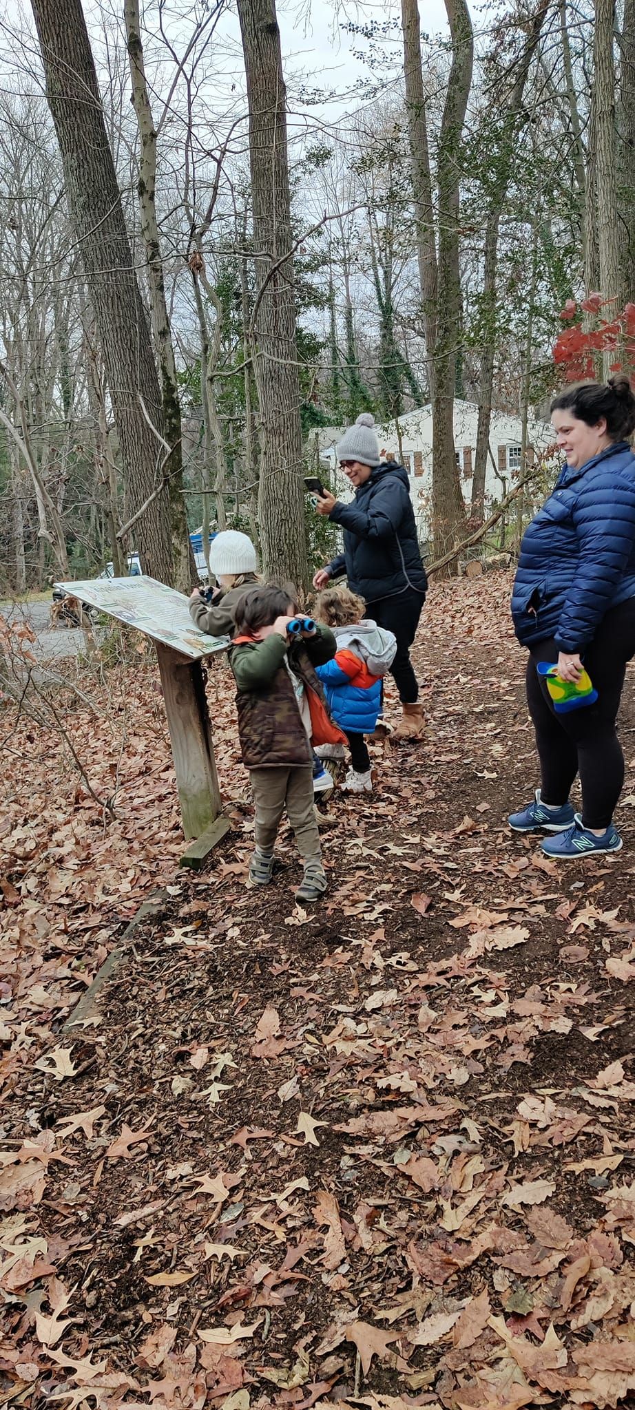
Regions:
M 595 30 L 593 37 L 595 154 L 597 154 L 597 212 L 600 292 L 612 299 L 612 312 L 621 293 L 619 226 L 617 203 L 617 144 L 615 144 L 615 63 L 614 63 L 615 0 L 595 0 Z M 615 361 L 615 350 L 603 354 L 604 376 Z

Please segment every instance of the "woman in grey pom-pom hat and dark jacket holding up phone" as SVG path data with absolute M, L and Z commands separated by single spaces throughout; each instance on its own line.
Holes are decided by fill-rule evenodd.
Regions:
M 395 737 L 418 739 L 423 733 L 423 706 L 418 701 L 411 646 L 428 578 L 421 561 L 406 471 L 402 465 L 381 462 L 374 424 L 370 412 L 364 412 L 337 446 L 337 460 L 356 498 L 351 505 L 343 505 L 333 495 L 318 501 L 318 513 L 341 525 L 344 551 L 316 572 L 313 587 L 322 589 L 346 572 L 350 589 L 364 598 L 368 616 L 394 632 L 397 653 L 391 674 L 404 709 Z

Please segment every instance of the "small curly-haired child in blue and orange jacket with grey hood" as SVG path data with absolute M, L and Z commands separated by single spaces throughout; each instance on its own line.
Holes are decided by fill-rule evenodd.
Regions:
M 373 735 L 381 711 L 381 681 L 397 651 L 392 632 L 364 618 L 365 602 L 349 588 L 326 588 L 319 594 L 313 616 L 329 626 L 337 651 L 316 673 L 325 688 L 330 713 L 350 747 L 350 768 L 343 787 L 347 792 L 371 792 L 371 767 L 364 735 Z

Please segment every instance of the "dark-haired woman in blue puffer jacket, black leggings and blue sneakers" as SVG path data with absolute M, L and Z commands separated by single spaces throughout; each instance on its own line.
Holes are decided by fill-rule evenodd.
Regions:
M 526 529 L 512 592 L 518 640 L 529 649 L 526 697 L 542 787 L 509 818 L 515 832 L 553 833 L 550 857 L 618 852 L 612 814 L 624 784 L 615 719 L 635 656 L 635 396 L 627 376 L 583 382 L 552 402 L 566 464 Z M 583 666 L 594 704 L 557 713 L 540 663 L 576 682 Z M 569 792 L 580 774 L 583 811 Z

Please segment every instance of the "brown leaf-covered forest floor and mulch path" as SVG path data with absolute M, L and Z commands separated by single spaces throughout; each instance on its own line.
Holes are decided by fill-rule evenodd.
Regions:
M 326 804 L 315 908 L 286 832 L 244 885 L 223 663 L 199 876 L 150 658 L 120 728 L 111 680 L 103 719 L 69 704 L 92 792 L 4 709 L 4 1403 L 634 1403 L 632 691 L 624 852 L 548 862 L 505 828 L 536 781 L 507 591 L 432 591 L 426 740 Z

